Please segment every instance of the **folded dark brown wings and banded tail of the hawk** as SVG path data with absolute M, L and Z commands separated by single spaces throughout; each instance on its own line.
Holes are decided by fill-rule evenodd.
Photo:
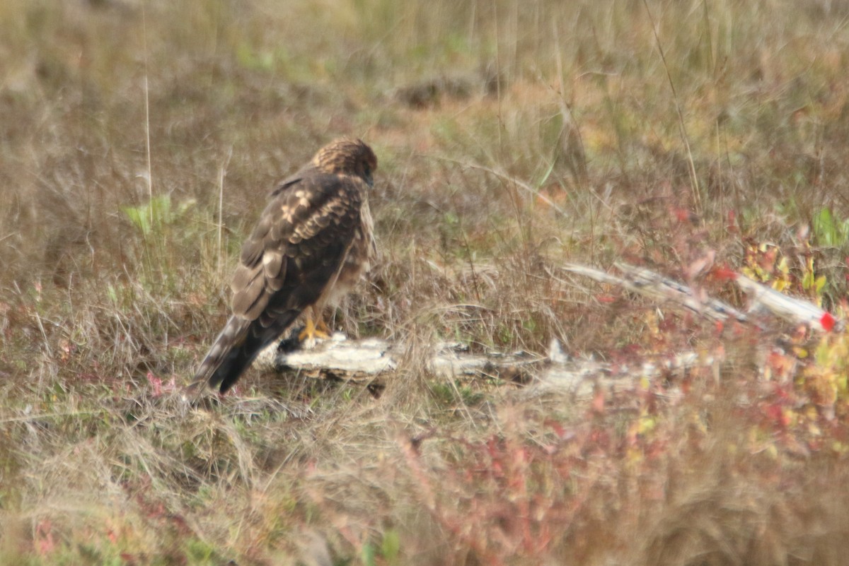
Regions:
M 365 182 L 306 169 L 284 181 L 245 241 L 233 275 L 233 316 L 194 383 L 233 385 L 256 354 L 335 281 L 360 223 Z

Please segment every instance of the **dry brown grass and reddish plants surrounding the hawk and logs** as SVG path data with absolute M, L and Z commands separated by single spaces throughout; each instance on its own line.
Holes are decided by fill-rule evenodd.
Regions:
M 5 0 L 0 563 L 843 563 L 845 339 L 779 351 L 547 268 L 715 252 L 839 307 L 847 14 Z M 383 255 L 337 324 L 405 362 L 379 399 L 253 372 L 186 406 L 267 189 L 339 135 L 379 156 Z M 421 362 L 552 338 L 726 362 L 589 401 Z

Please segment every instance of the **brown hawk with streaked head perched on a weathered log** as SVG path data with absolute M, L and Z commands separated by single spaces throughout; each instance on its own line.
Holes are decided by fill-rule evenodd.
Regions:
M 302 312 L 320 317 L 368 271 L 375 254 L 368 188 L 376 168 L 371 147 L 340 139 L 272 191 L 233 274 L 233 315 L 192 389 L 206 382 L 227 391 Z M 321 334 L 307 313 L 301 339 Z

